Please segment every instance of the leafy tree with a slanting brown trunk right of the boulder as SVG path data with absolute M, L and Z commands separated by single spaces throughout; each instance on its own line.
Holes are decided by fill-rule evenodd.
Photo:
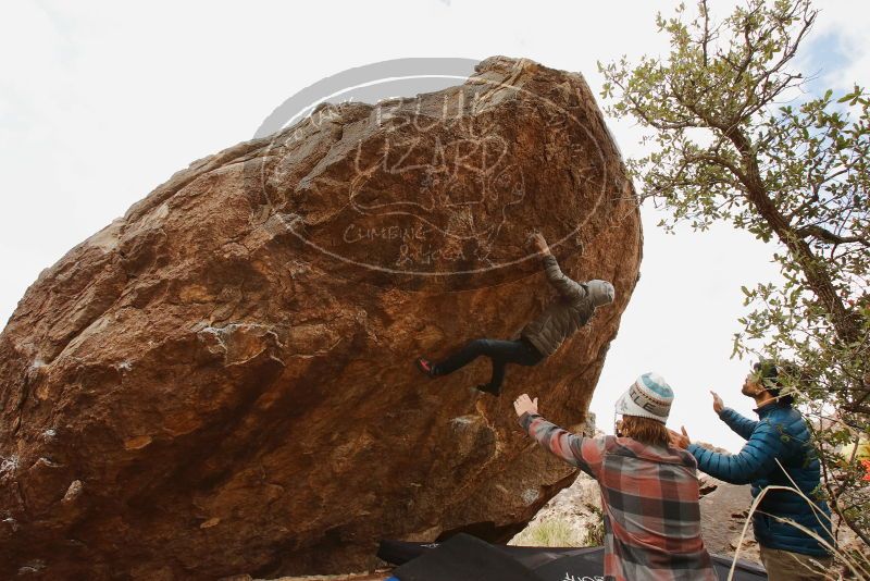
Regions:
M 784 282 L 743 288 L 755 309 L 735 355 L 794 363 L 786 382 L 825 420 L 817 444 L 832 506 L 870 544 L 860 463 L 833 454 L 870 427 L 870 98 L 858 86 L 837 99 L 804 92 L 792 61 L 818 15 L 809 0 L 748 0 L 720 22 L 706 0 L 697 9 L 658 16 L 667 57 L 599 63 L 607 110 L 646 129 L 651 152 L 629 169 L 641 199 L 669 211 L 660 225 L 726 221 L 778 246 Z

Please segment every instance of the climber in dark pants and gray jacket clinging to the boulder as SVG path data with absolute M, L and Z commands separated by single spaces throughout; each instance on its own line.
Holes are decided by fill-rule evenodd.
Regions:
M 540 234 L 532 243 L 543 257 L 544 272 L 559 296 L 534 321 L 526 324 L 520 336 L 512 341 L 478 338 L 469 342 L 459 351 L 438 362 L 425 357 L 417 359 L 417 367 L 430 378 L 447 375 L 485 355 L 493 362 L 489 383 L 478 385 L 482 392 L 498 395 L 508 363 L 536 366 L 555 354 L 564 341 L 592 319 L 595 309 L 613 301 L 613 285 L 607 281 L 579 283 L 566 276 L 547 240 Z

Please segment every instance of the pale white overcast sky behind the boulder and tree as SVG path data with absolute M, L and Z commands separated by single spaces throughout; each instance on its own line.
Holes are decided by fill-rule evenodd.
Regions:
M 387 59 L 526 57 L 583 73 L 596 61 L 666 48 L 657 11 L 676 1 L 140 3 L 20 1 L 0 5 L 0 321 L 40 270 L 122 215 L 192 160 L 249 139 L 286 98 L 316 81 Z M 710 2 L 718 14 L 732 1 Z M 870 4 L 817 1 L 801 60 L 813 88 L 867 84 Z M 637 129 L 610 120 L 626 157 Z M 676 392 L 671 424 L 731 449 L 707 390 L 749 412 L 748 363 L 729 360 L 742 284 L 776 275 L 772 247 L 716 227 L 676 236 L 644 208 L 642 280 L 593 400 L 612 404 L 641 372 Z M 409 356 L 412 354 L 409 354 Z M 546 413 L 546 393 L 540 395 Z

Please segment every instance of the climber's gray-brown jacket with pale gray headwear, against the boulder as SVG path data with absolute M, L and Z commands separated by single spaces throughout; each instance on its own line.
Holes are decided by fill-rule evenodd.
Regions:
M 572 281 L 562 273 L 552 255 L 544 257 L 544 272 L 559 292 L 559 297 L 537 319 L 525 325 L 520 334 L 548 357 L 588 322 L 596 307 L 613 301 L 613 285 L 607 281 Z

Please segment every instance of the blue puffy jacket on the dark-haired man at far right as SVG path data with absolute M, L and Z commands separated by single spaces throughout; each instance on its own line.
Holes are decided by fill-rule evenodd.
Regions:
M 689 444 L 688 450 L 698 460 L 698 470 L 732 484 L 751 482 L 753 498 L 765 486 L 793 486 L 791 481 L 794 481 L 816 503 L 821 514 L 794 492 L 768 491 L 753 516 L 755 537 L 766 547 L 818 557 L 828 556 L 828 551 L 818 541 L 796 527 L 774 518 L 793 520 L 815 531 L 834 546 L 831 512 L 817 490 L 820 482 L 819 459 L 812 448 L 807 423 L 792 406 L 779 403 L 761 406 L 756 412 L 759 421 L 744 418 L 731 408 L 719 413 L 729 428 L 747 440 L 739 454 L 719 454 L 696 444 Z M 776 460 L 785 469 L 787 477 Z

